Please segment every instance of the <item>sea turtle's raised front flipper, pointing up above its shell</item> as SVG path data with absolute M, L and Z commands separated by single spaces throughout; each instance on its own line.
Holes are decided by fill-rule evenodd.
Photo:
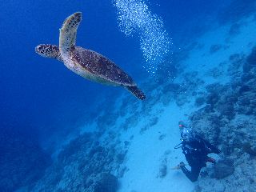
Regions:
M 66 54 L 75 46 L 77 30 L 80 22 L 82 21 L 82 13 L 77 12 L 71 14 L 63 22 L 59 34 L 59 48 L 61 54 Z

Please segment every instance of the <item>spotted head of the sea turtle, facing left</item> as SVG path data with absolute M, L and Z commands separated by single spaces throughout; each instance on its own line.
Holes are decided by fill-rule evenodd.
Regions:
M 35 52 L 40 54 L 45 58 L 57 58 L 59 61 L 62 61 L 61 54 L 59 52 L 58 46 L 49 45 L 49 44 L 40 44 L 35 47 Z

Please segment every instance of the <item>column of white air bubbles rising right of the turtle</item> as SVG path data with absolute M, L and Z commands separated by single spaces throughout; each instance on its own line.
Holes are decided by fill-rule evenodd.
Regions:
M 150 12 L 142 0 L 114 0 L 118 10 L 118 26 L 127 36 L 138 35 L 145 69 L 154 73 L 170 50 L 170 38 L 162 19 Z

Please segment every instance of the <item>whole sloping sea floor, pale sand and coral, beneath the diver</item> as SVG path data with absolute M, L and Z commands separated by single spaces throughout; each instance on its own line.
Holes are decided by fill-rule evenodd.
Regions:
M 90 117 L 94 122 L 80 127 L 78 138 L 63 146 L 54 165 L 30 190 L 256 191 L 256 134 L 249 133 L 256 125 L 256 91 L 251 88 L 256 73 L 255 66 L 248 66 L 250 57 L 256 59 L 255 34 L 254 17 L 216 26 L 180 50 L 186 57 L 178 65 L 177 78 L 140 85 L 145 101 L 129 93 L 110 96 L 96 108 L 102 112 Z M 244 101 L 246 95 L 251 99 Z M 214 157 L 230 160 L 223 168 L 229 173 L 219 175 L 208 164 L 206 174 L 192 183 L 181 170 L 172 169 L 186 162 L 182 150 L 174 150 L 180 142 L 179 120 L 222 149 Z

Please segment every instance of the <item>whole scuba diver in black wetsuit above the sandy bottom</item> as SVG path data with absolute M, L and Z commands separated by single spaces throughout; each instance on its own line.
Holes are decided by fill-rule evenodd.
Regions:
M 182 148 L 182 152 L 185 154 L 186 161 L 190 165 L 191 171 L 186 169 L 184 162 L 180 162 L 178 168 L 186 174 L 186 177 L 189 178 L 191 182 L 196 182 L 200 170 L 202 167 L 206 166 L 206 162 L 215 164 L 214 158 L 210 158 L 207 155 L 210 153 L 220 154 L 221 150 L 201 138 L 191 128 L 186 127 L 184 122 L 178 122 L 178 126 L 182 130 L 182 142 L 175 146 L 174 149 Z

